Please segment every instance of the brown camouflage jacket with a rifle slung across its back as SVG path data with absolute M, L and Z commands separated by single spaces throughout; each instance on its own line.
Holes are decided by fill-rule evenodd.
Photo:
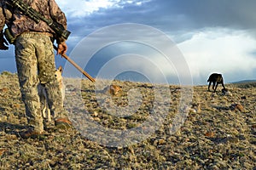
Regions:
M 22 14 L 18 8 L 10 7 L 10 1 L 0 0 L 0 32 L 6 25 L 14 37 L 25 31 L 49 32 L 55 37 L 55 32 L 43 20 L 37 24 L 29 16 Z M 29 4 L 38 13 L 43 14 L 46 19 L 55 20 L 67 29 L 66 16 L 55 3 L 55 0 L 23 0 L 23 2 Z M 58 43 L 63 41 L 60 37 L 55 38 Z

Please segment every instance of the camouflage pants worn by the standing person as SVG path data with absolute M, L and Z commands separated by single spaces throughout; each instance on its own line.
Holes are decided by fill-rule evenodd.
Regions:
M 45 85 L 53 116 L 67 116 L 67 111 L 62 106 L 61 89 L 55 78 L 55 54 L 50 37 L 42 33 L 22 33 L 15 41 L 15 59 L 27 122 L 34 130 L 43 132 L 39 83 Z

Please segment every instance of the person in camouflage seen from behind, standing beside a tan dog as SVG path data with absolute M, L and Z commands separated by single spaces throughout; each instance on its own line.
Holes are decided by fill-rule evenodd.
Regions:
M 18 0 L 31 7 L 45 19 L 54 20 L 67 29 L 67 19 L 55 0 Z M 63 108 L 61 89 L 55 78 L 55 54 L 53 43 L 56 41 L 57 54 L 66 54 L 67 44 L 44 20 L 32 19 L 32 16 L 20 10 L 14 0 L 1 0 L 0 3 L 0 48 L 8 49 L 3 37 L 15 45 L 15 61 L 20 82 L 21 99 L 26 107 L 28 127 L 20 133 L 22 138 L 34 138 L 44 135 L 44 122 L 40 109 L 38 84 L 45 86 L 49 98 L 49 109 L 55 120 L 55 127 L 72 127 L 67 111 Z

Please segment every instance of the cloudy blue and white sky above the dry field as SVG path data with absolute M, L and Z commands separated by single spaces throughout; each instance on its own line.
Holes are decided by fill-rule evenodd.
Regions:
M 70 57 L 79 54 L 82 59 L 90 57 L 85 59 L 88 62 L 83 66 L 93 77 L 97 77 L 105 65 L 113 62 L 109 66 L 125 63 L 127 68 L 131 66 L 131 71 L 138 72 L 145 79 L 151 79 L 151 75 L 155 72 L 154 69 L 150 71 L 151 64 L 141 62 L 139 69 L 134 67 L 140 63 L 139 59 L 144 59 L 152 62 L 156 70 L 163 72 L 167 81 L 171 83 L 178 82 L 177 75 L 182 70 L 186 70 L 187 66 L 194 84 L 207 84 L 207 78 L 212 72 L 222 73 L 224 82 L 256 79 L 256 11 L 254 9 L 256 1 L 254 0 L 55 1 L 66 14 L 67 29 L 72 32 L 67 40 L 67 54 Z M 117 25 L 124 27 L 127 23 L 134 24 L 131 30 L 120 29 L 119 32 L 113 33 L 118 30 Z M 148 32 L 147 34 L 141 32 L 147 39 L 150 38 L 151 42 L 148 44 L 134 39 L 136 36 L 132 33 L 140 33 L 135 30 L 141 28 L 140 26 L 144 26 L 143 28 Z M 104 32 L 103 37 L 101 37 L 102 32 Z M 160 39 L 153 34 L 155 32 L 158 32 L 159 36 L 170 38 L 173 43 L 170 42 L 168 45 L 163 43 L 159 47 Z M 109 42 L 98 47 L 98 51 L 92 56 L 86 56 L 87 53 L 81 51 L 81 46 L 88 51 L 94 48 L 90 41 L 88 42 L 90 38 L 97 39 L 92 42 L 93 45 L 98 45 L 107 39 L 114 40 L 114 37 L 120 34 L 129 41 Z M 131 38 L 125 35 L 131 35 Z M 169 59 L 171 64 L 165 60 L 168 54 L 161 52 L 165 51 L 165 48 L 172 48 L 173 45 L 179 50 L 177 55 L 184 58 L 185 63 L 177 64 L 172 56 Z M 131 54 L 131 59 L 128 57 L 125 60 L 127 54 Z M 117 56 L 123 58 L 114 60 Z M 137 56 L 138 60 L 134 56 Z M 1 51 L 0 60 L 0 71 L 15 72 L 13 47 L 10 47 L 9 51 Z M 65 64 L 67 64 L 65 59 L 56 56 L 56 65 Z M 151 65 L 150 68 L 148 65 Z M 113 70 L 116 68 L 119 66 L 115 66 Z M 133 79 L 134 77 L 128 73 L 120 74 L 119 77 Z

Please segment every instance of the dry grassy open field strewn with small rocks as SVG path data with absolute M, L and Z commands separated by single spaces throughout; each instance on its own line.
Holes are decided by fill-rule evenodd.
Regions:
M 83 80 L 79 90 L 73 81 L 76 80 L 66 82 L 67 111 L 80 116 L 76 115 L 76 111 L 82 110 L 79 101 L 72 98 L 80 93 L 86 114 L 102 127 L 119 131 L 139 127 L 154 109 L 152 84 L 116 82 L 123 88 L 124 95 L 109 98 L 114 105 L 127 106 L 125 92 L 134 88 L 137 91 L 133 92 L 141 92 L 141 98 L 135 99 L 142 99 L 135 114 L 119 117 L 100 107 L 92 82 Z M 98 132 L 91 130 L 91 134 L 84 135 L 81 126 L 79 130 L 68 131 L 49 126 L 45 139 L 21 139 L 19 133 L 26 129 L 26 117 L 17 76 L 3 72 L 0 76 L 0 169 L 256 169 L 255 83 L 227 84 L 232 95 L 223 95 L 221 88 L 212 94 L 207 86 L 194 87 L 192 103 L 200 104 L 201 109 L 189 111 L 187 108 L 185 122 L 176 133 L 170 129 L 181 102 L 181 88 L 172 85 L 167 88 L 172 99 L 167 101 L 170 105 L 167 112 L 162 112 L 166 115 L 163 122 L 148 138 L 136 144 L 112 147 L 108 139 L 98 143 L 90 139 Z M 77 103 L 78 107 L 72 109 L 70 105 Z M 235 103 L 243 109 L 230 107 Z M 72 117 L 74 124 L 79 124 L 79 118 Z

